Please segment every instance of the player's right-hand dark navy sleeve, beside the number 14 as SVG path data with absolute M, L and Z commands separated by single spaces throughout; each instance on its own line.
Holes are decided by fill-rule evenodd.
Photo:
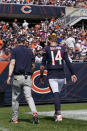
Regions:
M 74 75 L 75 74 L 74 69 L 72 67 L 72 64 L 71 64 L 69 58 L 68 58 L 67 51 L 64 52 L 64 60 L 66 62 L 67 67 L 69 68 L 69 71 L 71 72 L 71 75 Z

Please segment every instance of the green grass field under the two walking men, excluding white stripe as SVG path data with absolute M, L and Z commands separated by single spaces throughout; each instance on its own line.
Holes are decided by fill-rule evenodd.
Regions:
M 87 109 L 87 104 L 63 104 L 62 110 Z M 53 111 L 53 105 L 38 105 L 37 110 Z M 10 123 L 11 107 L 0 108 L 0 131 L 87 131 L 87 121 L 65 119 L 61 123 L 56 123 L 52 116 L 39 116 L 40 123 L 32 124 L 32 115 L 28 106 L 19 108 L 19 123 Z

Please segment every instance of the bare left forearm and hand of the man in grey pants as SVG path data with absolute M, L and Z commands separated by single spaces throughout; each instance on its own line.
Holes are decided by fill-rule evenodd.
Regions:
M 15 66 L 15 59 L 12 59 L 9 64 L 9 73 L 8 73 L 8 78 L 7 78 L 7 84 L 10 84 L 10 80 L 11 80 L 11 76 L 13 74 L 14 66 Z

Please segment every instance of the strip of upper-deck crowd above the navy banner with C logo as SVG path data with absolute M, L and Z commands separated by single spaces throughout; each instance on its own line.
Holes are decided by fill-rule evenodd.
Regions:
M 86 7 L 86 0 L 0 0 L 1 3 Z

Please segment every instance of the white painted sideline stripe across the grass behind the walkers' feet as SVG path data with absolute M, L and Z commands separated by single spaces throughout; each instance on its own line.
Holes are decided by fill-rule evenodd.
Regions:
M 26 112 L 25 114 L 32 114 L 32 113 L 31 112 Z M 54 111 L 38 112 L 38 115 L 54 116 Z M 87 121 L 87 110 L 67 110 L 67 111 L 62 111 L 62 116 L 63 116 L 63 118 L 70 118 L 70 119 Z

